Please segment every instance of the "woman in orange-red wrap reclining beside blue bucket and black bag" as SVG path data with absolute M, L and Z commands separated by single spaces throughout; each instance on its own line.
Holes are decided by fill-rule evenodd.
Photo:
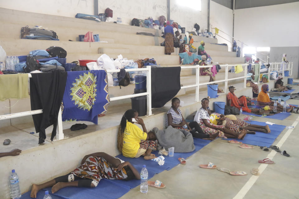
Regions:
M 241 96 L 241 97 L 237 97 L 234 92 L 235 92 L 235 87 L 234 86 L 229 86 L 228 90 L 230 91 L 227 95 L 226 95 L 226 99 L 227 99 L 227 105 L 228 106 L 234 106 L 237 109 L 241 109 L 245 112 L 248 113 L 260 113 L 259 109 L 249 109 L 247 106 L 247 99 L 245 96 Z

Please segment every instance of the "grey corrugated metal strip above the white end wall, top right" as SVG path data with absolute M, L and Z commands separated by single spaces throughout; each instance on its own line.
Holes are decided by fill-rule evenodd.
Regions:
M 298 2 L 299 0 L 235 0 L 235 9 L 250 7 L 272 6 L 283 3 Z M 222 5 L 222 4 L 221 4 Z

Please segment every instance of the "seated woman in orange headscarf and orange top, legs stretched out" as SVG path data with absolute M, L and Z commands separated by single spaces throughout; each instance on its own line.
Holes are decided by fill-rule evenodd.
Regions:
M 274 108 L 274 102 L 270 100 L 269 95 L 267 92 L 269 91 L 269 86 L 268 84 L 263 84 L 261 88 L 261 92 L 259 92 L 256 107 L 257 108 L 264 108 L 265 106 L 269 106 L 270 110 L 273 110 Z M 287 109 L 287 112 L 292 112 L 294 107 L 290 107 Z M 283 111 L 283 106 L 281 104 L 277 103 L 277 111 L 282 112 Z

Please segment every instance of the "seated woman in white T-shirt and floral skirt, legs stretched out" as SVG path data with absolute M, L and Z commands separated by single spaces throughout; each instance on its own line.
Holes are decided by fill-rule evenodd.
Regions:
M 194 121 L 199 123 L 199 126 L 206 134 L 214 134 L 219 132 L 219 137 L 227 137 L 227 138 L 238 138 L 243 139 L 246 135 L 246 130 L 242 130 L 240 133 L 233 132 L 225 126 L 215 125 L 210 123 L 210 115 L 211 111 L 209 108 L 209 99 L 202 99 L 202 108 L 197 111 L 194 117 Z

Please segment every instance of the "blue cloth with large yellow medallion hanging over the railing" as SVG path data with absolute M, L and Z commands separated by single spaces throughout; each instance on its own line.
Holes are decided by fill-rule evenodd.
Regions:
M 68 72 L 62 100 L 63 121 L 90 121 L 106 114 L 110 103 L 105 70 Z

